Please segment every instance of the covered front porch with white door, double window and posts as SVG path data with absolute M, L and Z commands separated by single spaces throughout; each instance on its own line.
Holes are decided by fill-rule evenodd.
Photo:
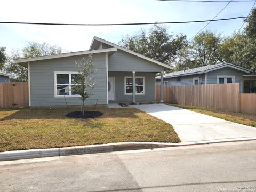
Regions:
M 156 73 L 109 71 L 108 103 L 156 102 Z

